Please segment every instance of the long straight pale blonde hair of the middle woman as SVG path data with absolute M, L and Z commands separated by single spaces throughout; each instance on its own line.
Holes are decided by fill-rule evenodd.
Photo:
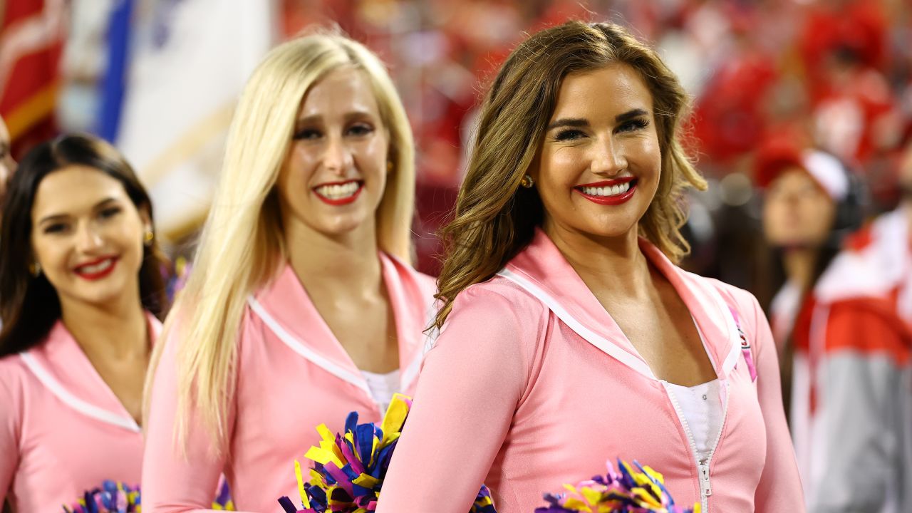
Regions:
M 177 339 L 182 446 L 192 409 L 223 447 L 234 393 L 238 333 L 247 297 L 275 277 L 287 258 L 275 183 L 289 151 L 306 92 L 338 68 L 362 70 L 389 131 L 389 180 L 377 210 L 378 247 L 410 261 L 415 195 L 409 120 L 386 68 L 367 47 L 338 34 L 311 34 L 272 49 L 244 87 L 229 131 L 222 176 L 212 200 L 192 274 L 161 340 Z M 169 336 L 180 330 L 179 337 Z M 165 344 L 157 344 L 146 386 Z

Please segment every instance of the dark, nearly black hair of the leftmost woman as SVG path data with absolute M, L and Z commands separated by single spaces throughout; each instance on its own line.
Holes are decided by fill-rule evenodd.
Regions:
M 109 143 L 91 135 L 62 135 L 38 144 L 19 162 L 7 189 L 0 227 L 0 357 L 26 351 L 47 337 L 60 319 L 57 291 L 43 274 L 29 270 L 32 260 L 32 205 L 38 185 L 48 174 L 70 165 L 97 169 L 123 184 L 137 209 L 152 219 L 152 204 L 130 164 Z M 154 241 L 143 246 L 140 300 L 159 317 L 167 309 L 163 269 L 166 259 Z

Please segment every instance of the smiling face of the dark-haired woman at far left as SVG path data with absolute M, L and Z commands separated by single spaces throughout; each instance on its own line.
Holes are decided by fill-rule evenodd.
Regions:
M 104 306 L 135 300 L 143 236 L 150 228 L 148 213 L 133 204 L 119 180 L 91 167 L 67 166 L 38 184 L 33 258 L 64 308 L 73 301 Z

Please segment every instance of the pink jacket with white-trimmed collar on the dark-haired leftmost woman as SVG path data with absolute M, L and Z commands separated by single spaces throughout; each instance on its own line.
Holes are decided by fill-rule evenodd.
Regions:
M 151 315 L 150 337 L 161 323 Z M 140 483 L 140 426 L 64 327 L 0 360 L 0 505 L 56 512 L 105 479 Z

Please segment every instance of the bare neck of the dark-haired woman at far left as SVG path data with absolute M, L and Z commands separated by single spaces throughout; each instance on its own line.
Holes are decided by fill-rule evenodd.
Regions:
M 116 358 L 149 353 L 149 330 L 138 288 L 105 305 L 61 298 L 61 320 L 83 351 Z

